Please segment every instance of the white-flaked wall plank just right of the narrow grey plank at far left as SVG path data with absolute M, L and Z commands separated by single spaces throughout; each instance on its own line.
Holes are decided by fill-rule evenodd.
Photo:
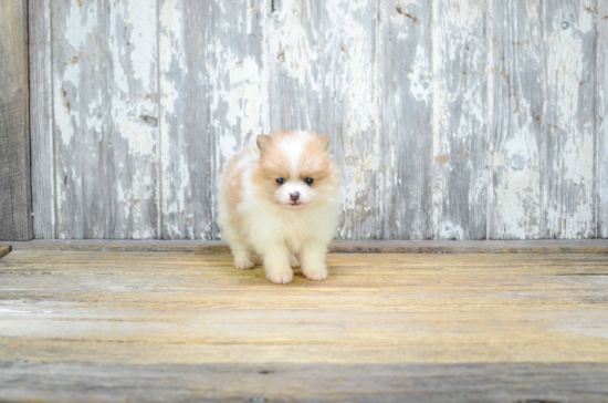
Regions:
M 51 2 L 56 236 L 104 238 L 106 186 L 105 1 Z

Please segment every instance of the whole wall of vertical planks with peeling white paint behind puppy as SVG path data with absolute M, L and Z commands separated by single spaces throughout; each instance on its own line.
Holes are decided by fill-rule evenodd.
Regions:
M 338 238 L 608 237 L 600 0 L 30 1 L 38 238 L 217 239 L 216 174 L 315 130 Z

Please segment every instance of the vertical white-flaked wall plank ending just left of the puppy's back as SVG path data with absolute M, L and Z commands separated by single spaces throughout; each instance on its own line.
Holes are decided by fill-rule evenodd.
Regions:
M 159 3 L 163 239 L 208 238 L 212 175 L 205 64 L 210 3 Z

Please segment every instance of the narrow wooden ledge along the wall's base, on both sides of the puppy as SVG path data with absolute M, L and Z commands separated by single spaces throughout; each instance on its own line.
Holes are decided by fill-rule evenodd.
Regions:
M 227 254 L 223 241 L 196 240 L 32 240 L 1 242 L 12 250 L 180 251 Z M 10 250 L 10 249 L 9 249 Z M 608 254 L 608 239 L 587 240 L 337 240 L 331 254 Z

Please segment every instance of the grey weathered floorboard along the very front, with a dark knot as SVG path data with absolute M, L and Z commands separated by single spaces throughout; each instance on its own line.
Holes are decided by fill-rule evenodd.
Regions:
M 607 364 L 0 362 L 8 401 L 605 402 Z M 311 388 L 315 384 L 315 388 Z

